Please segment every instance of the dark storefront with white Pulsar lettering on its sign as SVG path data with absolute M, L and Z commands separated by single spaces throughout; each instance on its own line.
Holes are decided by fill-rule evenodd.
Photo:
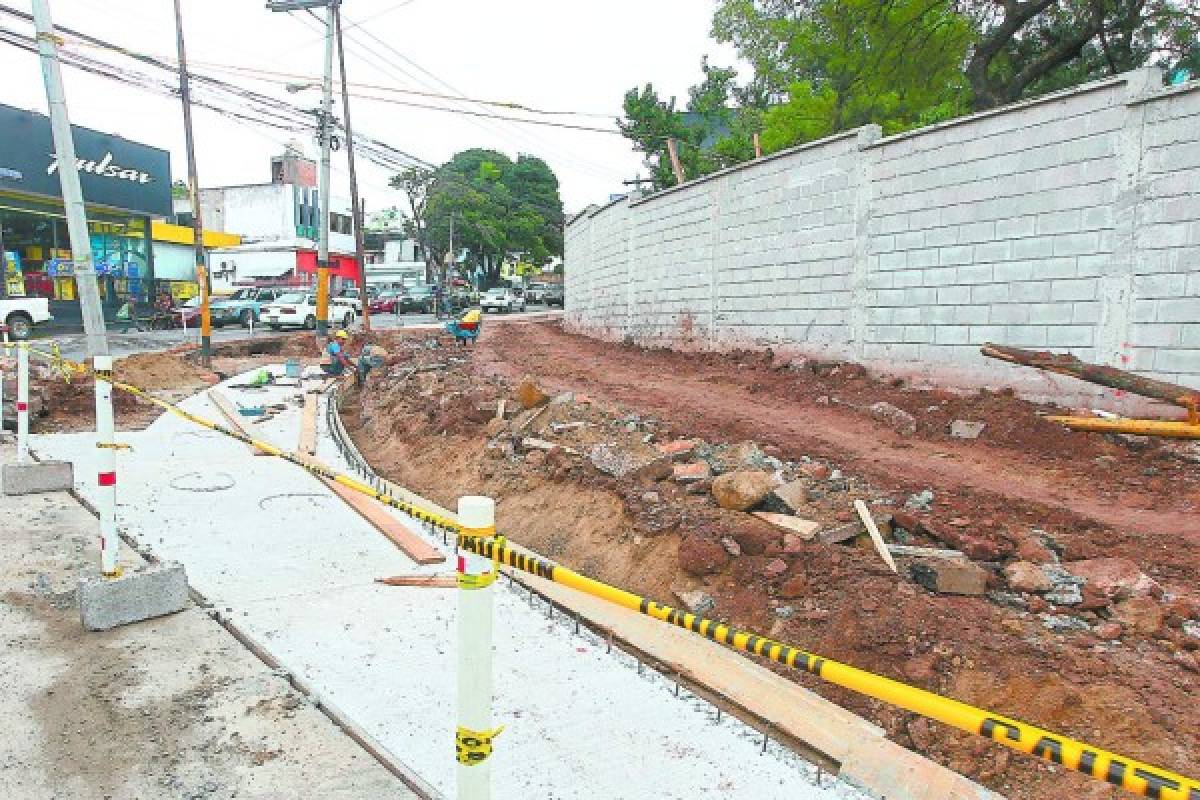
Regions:
M 106 313 L 158 290 L 151 218 L 170 207 L 170 154 L 72 126 L 92 259 Z M 49 118 L 0 106 L 0 291 L 49 297 L 56 319 L 78 319 L 58 158 Z

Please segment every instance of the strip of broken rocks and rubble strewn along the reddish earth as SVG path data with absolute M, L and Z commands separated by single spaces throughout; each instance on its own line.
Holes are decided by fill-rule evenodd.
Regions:
M 966 518 L 938 519 L 929 489 L 901 503 L 835 465 L 786 461 L 752 441 L 678 438 L 658 420 L 601 408 L 581 395 L 551 397 L 528 377 L 515 390 L 496 390 L 499 397 L 476 393 L 468 411 L 484 423 L 492 458 L 558 479 L 607 481 L 634 518 L 635 541 L 677 533 L 679 567 L 695 578 L 743 557 L 767 557 L 760 577 L 776 599 L 788 600 L 804 594 L 806 579 L 793 565 L 809 548 L 874 548 L 895 563 L 899 577 L 931 593 L 983 596 L 1038 614 L 1051 632 L 1097 640 L 1166 638 L 1180 663 L 1196 668 L 1189 651 L 1200 648 L 1200 603 L 1170 596 L 1127 559 L 1062 563 L 1045 531 L 1013 534 Z M 425 393 L 432 391 L 431 384 Z M 449 391 L 443 402 L 454 396 Z M 872 545 L 856 500 L 870 507 L 883 547 Z M 691 610 L 714 610 L 713 597 L 694 585 L 676 594 Z M 787 618 L 794 609 L 776 604 L 775 612 Z

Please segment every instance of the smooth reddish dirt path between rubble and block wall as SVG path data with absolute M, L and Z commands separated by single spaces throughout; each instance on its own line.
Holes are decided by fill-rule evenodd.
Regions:
M 504 336 L 486 337 L 479 356 L 484 369 L 506 378 L 530 372 L 556 389 L 582 389 L 598 399 L 662 415 L 689 435 L 770 441 L 785 453 L 827 458 L 882 486 L 929 486 L 994 510 L 1033 504 L 1076 524 L 1096 522 L 1200 543 L 1193 464 L 1147 467 L 1148 459 L 1140 458 L 1133 465 L 1115 464 L 1124 453 L 1098 447 L 1100 438 L 1087 434 L 1045 443 L 1064 447 L 1060 452 L 1037 441 L 1026 446 L 1030 443 L 1020 438 L 968 441 L 925 431 L 901 437 L 853 407 L 858 401 L 862 407 L 888 401 L 919 411 L 946 399 L 937 393 L 906 391 L 900 399 L 895 387 L 866 379 L 821 381 L 811 373 L 772 371 L 761 360 L 617 347 L 564 333 L 557 325 L 508 327 Z M 814 397 L 814 391 L 820 393 Z M 839 395 L 841 404 L 820 402 Z M 964 408 L 958 398 L 955 405 L 992 429 L 1039 423 L 1028 403 L 995 395 L 985 401 L 990 408 Z M 1147 480 L 1151 469 L 1156 475 Z

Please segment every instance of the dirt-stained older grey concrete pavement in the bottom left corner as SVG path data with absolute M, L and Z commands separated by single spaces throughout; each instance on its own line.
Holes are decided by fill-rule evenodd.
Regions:
M 74 587 L 98 564 L 70 494 L 0 495 L 4 798 L 413 796 L 200 608 L 85 633 Z

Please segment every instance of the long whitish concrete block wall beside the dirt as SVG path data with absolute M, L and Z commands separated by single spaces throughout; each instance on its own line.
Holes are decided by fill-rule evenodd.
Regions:
M 1198 139 L 1200 83 L 1163 89 L 1154 70 L 886 139 L 850 131 L 581 215 L 568 325 L 1037 396 L 1070 381 L 979 345 L 1200 386 Z

